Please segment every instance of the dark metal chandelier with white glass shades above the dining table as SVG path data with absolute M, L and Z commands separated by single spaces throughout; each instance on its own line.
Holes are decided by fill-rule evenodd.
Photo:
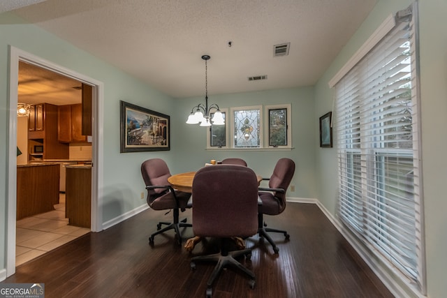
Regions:
M 203 103 L 199 103 L 191 110 L 191 114 L 189 114 L 187 124 L 199 124 L 200 126 L 211 126 L 214 125 L 224 125 L 225 120 L 223 120 L 223 115 L 221 110 L 219 110 L 219 105 L 212 103 L 208 106 L 208 67 L 207 61 L 210 60 L 209 55 L 203 55 L 202 59 L 205 60 L 205 105 Z M 214 115 L 211 119 L 211 110 L 216 109 Z M 196 111 L 196 112 L 194 112 Z

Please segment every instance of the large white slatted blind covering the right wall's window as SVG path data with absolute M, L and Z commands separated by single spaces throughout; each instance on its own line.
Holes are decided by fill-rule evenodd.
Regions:
M 415 15 L 403 12 L 335 86 L 339 216 L 424 292 Z

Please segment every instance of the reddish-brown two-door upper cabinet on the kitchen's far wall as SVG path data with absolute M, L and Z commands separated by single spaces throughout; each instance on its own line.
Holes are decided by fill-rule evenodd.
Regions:
M 82 104 L 59 105 L 58 109 L 59 142 L 87 142 L 87 135 L 82 135 Z

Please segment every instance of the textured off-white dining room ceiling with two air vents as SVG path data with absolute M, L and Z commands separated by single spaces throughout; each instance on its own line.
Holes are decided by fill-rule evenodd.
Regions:
M 376 0 L 47 0 L 13 10 L 173 97 L 316 83 Z M 228 42 L 232 46 L 228 46 Z M 288 56 L 273 46 L 291 43 Z M 267 75 L 268 80 L 247 77 Z

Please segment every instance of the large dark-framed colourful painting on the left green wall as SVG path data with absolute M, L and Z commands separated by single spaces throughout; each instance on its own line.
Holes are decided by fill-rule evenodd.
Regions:
M 170 117 L 120 100 L 120 152 L 170 150 Z

